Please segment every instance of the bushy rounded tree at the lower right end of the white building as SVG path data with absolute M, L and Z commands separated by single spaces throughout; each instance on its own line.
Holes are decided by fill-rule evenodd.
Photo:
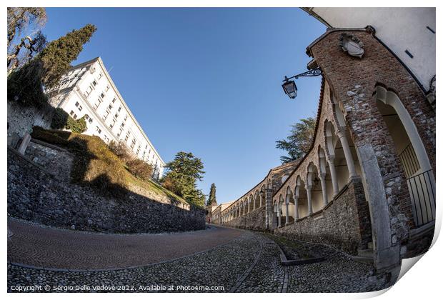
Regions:
M 196 188 L 196 181 L 203 179 L 203 162 L 192 153 L 180 151 L 173 161 L 166 164 L 168 173 L 164 177 L 163 186 L 175 194 L 182 196 L 196 206 L 204 206 L 205 196 Z

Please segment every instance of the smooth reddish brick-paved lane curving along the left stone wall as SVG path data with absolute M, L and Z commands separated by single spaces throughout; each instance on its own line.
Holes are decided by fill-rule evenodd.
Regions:
M 8 220 L 8 261 L 54 269 L 123 269 L 206 251 L 242 231 L 211 226 L 175 234 L 96 234 Z

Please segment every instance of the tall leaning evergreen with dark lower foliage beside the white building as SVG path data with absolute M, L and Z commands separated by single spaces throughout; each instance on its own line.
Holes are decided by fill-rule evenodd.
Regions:
M 96 31 L 88 24 L 73 30 L 46 45 L 34 59 L 13 71 L 8 77 L 8 99 L 25 105 L 42 106 L 47 102 L 46 91 L 59 83 L 61 75 L 71 68 L 71 61 L 79 56 Z

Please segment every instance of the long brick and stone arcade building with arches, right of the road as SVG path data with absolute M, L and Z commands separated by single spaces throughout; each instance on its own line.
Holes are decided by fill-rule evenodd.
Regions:
M 331 28 L 307 47 L 323 76 L 311 149 L 221 211 L 222 224 L 329 244 L 379 270 L 429 249 L 435 109 L 376 34 Z

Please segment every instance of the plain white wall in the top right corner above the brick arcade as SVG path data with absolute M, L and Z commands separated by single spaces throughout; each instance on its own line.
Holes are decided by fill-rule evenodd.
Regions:
M 412 71 L 424 89 L 435 75 L 435 8 L 313 7 L 315 14 L 335 28 L 371 25 L 383 41 Z M 369 50 L 369 49 L 368 49 Z M 404 51 L 408 50 L 414 58 Z

